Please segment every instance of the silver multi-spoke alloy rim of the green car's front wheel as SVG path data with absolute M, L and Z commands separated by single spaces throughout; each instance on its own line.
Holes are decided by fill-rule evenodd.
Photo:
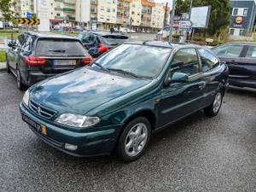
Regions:
M 131 127 L 125 138 L 125 153 L 128 156 L 136 156 L 141 153 L 148 140 L 147 125 L 138 123 Z

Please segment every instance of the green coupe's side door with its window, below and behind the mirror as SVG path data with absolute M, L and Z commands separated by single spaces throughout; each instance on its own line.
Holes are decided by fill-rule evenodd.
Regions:
M 172 123 L 199 110 L 206 84 L 196 49 L 177 50 L 172 58 L 170 70 L 171 74 L 177 72 L 188 74 L 189 80 L 172 83 L 161 89 L 160 102 L 157 106 L 159 126 Z

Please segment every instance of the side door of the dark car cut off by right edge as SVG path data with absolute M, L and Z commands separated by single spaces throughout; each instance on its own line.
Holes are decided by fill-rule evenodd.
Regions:
M 246 46 L 240 61 L 230 67 L 230 78 L 256 80 L 256 46 Z

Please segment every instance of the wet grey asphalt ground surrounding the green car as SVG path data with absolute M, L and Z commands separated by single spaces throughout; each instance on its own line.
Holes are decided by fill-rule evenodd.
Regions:
M 218 117 L 172 125 L 130 164 L 44 144 L 20 119 L 21 96 L 0 74 L 0 191 L 256 191 L 256 90 L 231 89 Z

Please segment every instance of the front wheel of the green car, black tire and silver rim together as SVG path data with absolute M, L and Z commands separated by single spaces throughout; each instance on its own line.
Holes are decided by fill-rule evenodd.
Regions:
M 151 136 L 151 125 L 148 119 L 138 117 L 125 125 L 119 137 L 117 154 L 121 160 L 131 162 L 139 159 L 146 148 Z

